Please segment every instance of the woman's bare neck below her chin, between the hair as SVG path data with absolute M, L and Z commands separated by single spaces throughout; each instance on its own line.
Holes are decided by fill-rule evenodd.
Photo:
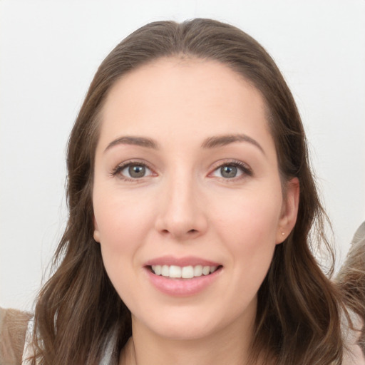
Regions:
M 235 327 L 235 324 L 232 324 Z M 200 339 L 167 339 L 133 324 L 133 337 L 120 365 L 248 365 L 253 323 L 230 327 Z M 261 362 L 257 363 L 262 364 Z M 256 365 L 256 364 L 255 364 Z

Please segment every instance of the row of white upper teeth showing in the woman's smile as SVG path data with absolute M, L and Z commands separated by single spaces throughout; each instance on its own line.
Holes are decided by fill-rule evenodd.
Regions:
M 201 277 L 202 275 L 208 275 L 215 272 L 217 266 L 176 266 L 176 265 L 152 265 L 152 271 L 156 275 L 162 275 L 163 277 L 171 278 L 183 278 L 191 279 L 192 277 Z

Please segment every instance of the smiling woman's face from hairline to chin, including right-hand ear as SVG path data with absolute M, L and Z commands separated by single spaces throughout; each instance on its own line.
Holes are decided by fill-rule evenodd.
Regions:
M 94 237 L 133 330 L 196 339 L 251 329 L 297 200 L 297 179 L 282 195 L 262 96 L 227 66 L 161 59 L 108 94 Z

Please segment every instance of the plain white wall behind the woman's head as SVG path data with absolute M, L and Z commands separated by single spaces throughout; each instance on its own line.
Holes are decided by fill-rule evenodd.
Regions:
M 31 309 L 62 235 L 65 148 L 98 64 L 149 21 L 254 36 L 299 106 L 339 261 L 365 220 L 365 1 L 0 1 L 0 305 Z

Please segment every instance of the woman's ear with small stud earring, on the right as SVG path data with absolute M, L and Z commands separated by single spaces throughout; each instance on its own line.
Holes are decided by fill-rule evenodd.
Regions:
M 282 213 L 277 227 L 276 243 L 282 243 L 287 239 L 297 222 L 299 207 L 299 180 L 292 178 L 287 182 L 284 201 L 282 202 Z

